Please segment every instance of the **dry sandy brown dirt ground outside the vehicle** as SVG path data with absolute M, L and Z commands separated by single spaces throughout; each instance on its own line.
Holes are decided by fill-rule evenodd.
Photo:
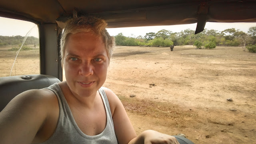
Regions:
M 35 51 L 23 52 L 32 58 L 21 53 L 16 75 L 39 73 Z M 10 75 L 6 69 L 14 59 L 5 52 L 0 51 L 0 76 Z M 195 144 L 254 144 L 255 74 L 256 54 L 241 47 L 175 46 L 171 52 L 116 46 L 104 86 L 120 98 L 137 134 L 152 129 L 185 134 Z

